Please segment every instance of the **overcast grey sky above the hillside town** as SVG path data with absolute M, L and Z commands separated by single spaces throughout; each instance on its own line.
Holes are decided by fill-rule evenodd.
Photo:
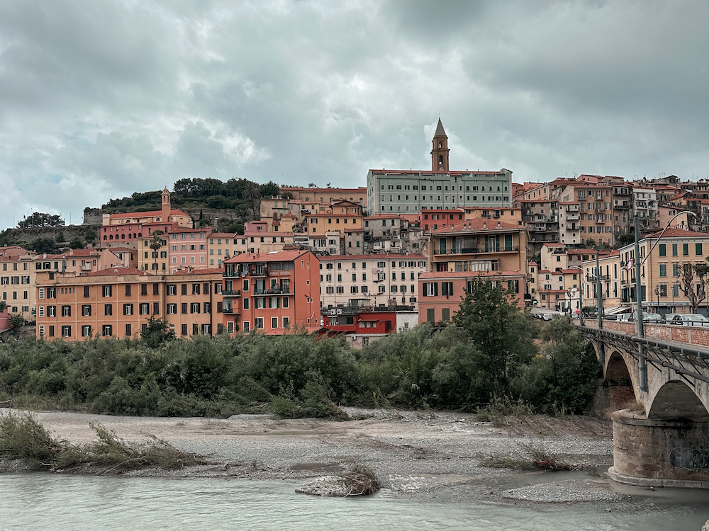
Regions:
M 180 178 L 709 175 L 709 2 L 0 2 L 0 229 Z

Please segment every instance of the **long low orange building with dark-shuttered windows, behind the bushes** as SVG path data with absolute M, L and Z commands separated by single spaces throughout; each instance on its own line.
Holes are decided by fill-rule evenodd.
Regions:
M 186 269 L 150 275 L 110 268 L 85 275 L 37 275 L 38 338 L 86 341 L 95 336 L 139 338 L 150 317 L 165 319 L 178 337 L 221 329 L 220 270 Z

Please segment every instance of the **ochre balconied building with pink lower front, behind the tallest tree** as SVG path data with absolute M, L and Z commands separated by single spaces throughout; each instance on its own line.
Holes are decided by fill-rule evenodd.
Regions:
M 526 227 L 485 218 L 432 231 L 429 271 L 418 281 L 419 322 L 449 321 L 468 282 L 481 276 L 503 282 L 523 306 L 528 241 Z

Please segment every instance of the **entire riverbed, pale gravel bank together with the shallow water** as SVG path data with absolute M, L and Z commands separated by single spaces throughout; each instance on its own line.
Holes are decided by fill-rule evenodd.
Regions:
M 162 529 L 698 530 L 709 518 L 703 491 L 647 491 L 610 481 L 605 475 L 613 462 L 610 422 L 601 418 L 535 416 L 489 423 L 453 412 L 348 411 L 357 420 L 35 413 L 57 439 L 87 442 L 94 439 L 89 423 L 101 423 L 124 440 L 156 436 L 214 464 L 117 477 L 5 474 L 0 514 L 13 517 L 0 518 L 0 530 L 89 529 L 104 513 L 119 523 L 125 518 L 125 527 L 104 526 L 115 529 L 140 522 Z M 530 449 L 582 470 L 520 473 L 487 464 L 491 458 L 529 457 Z M 379 476 L 379 493 L 355 500 L 295 493 L 353 463 Z M 4 471 L 15 466 L 6 463 Z M 89 527 L 80 520 L 82 511 Z M 71 525 L 43 527 L 46 514 L 62 514 L 61 521 Z M 218 525 L 206 515 L 218 518 Z M 9 521 L 22 524 L 8 527 Z

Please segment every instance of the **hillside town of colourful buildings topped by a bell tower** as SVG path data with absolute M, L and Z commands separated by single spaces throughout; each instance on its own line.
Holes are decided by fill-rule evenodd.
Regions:
M 458 171 L 440 120 L 430 154 L 430 169 L 369 169 L 366 187 L 245 190 L 242 231 L 197 223 L 165 188 L 160 210 L 104 212 L 85 249 L 0 247 L 0 333 L 137 338 L 164 321 L 179 338 L 298 330 L 361 348 L 445 324 L 479 278 L 567 314 L 595 309 L 600 285 L 606 315 L 630 312 L 636 219 L 643 309 L 707 313 L 708 180 Z

